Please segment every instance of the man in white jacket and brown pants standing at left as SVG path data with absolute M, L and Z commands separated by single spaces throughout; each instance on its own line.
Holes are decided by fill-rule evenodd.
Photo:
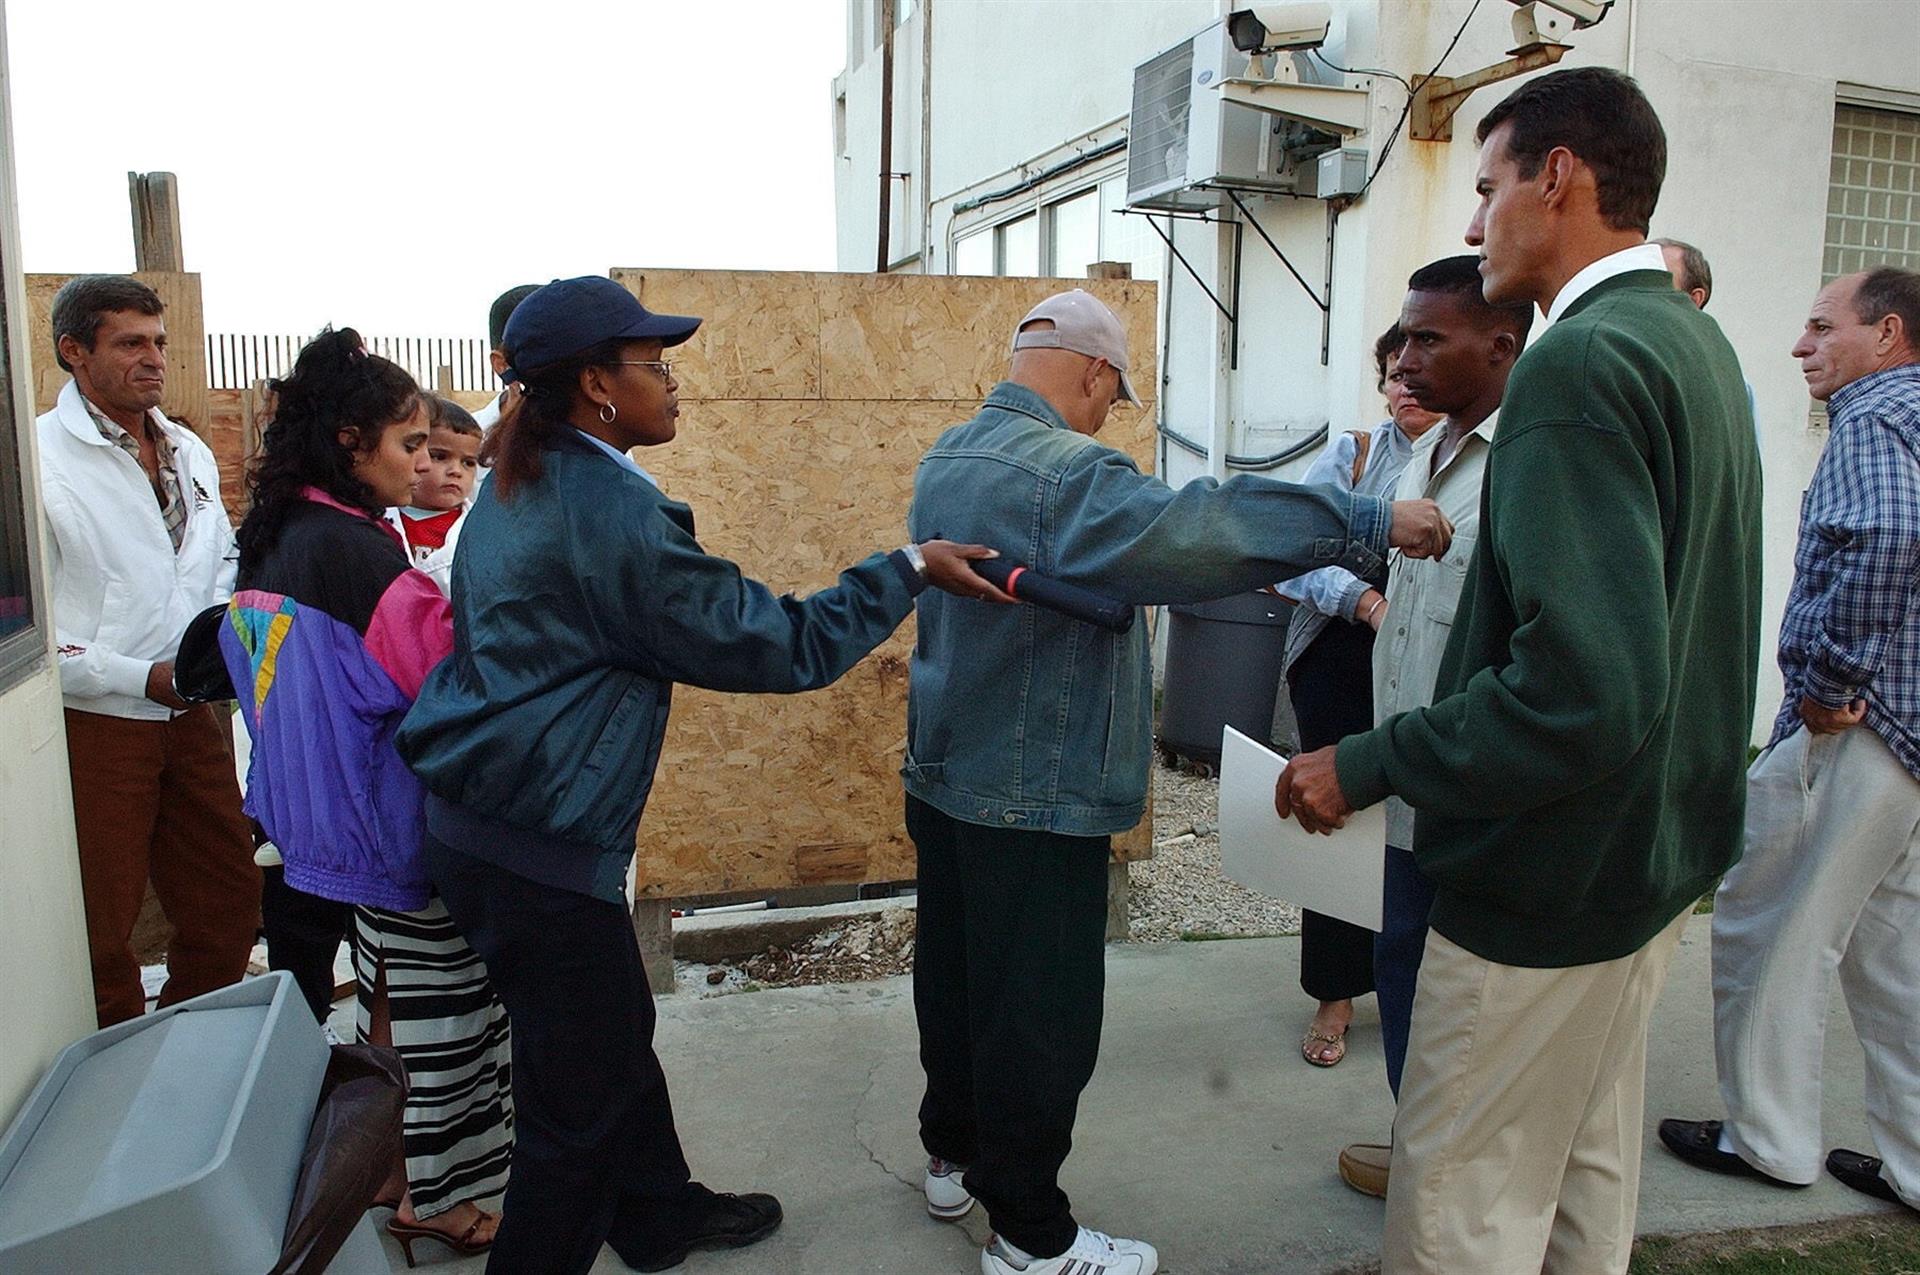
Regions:
M 238 551 L 213 453 L 159 411 L 159 296 L 83 275 L 54 298 L 73 380 L 36 422 L 73 822 L 100 1025 L 146 1008 L 129 945 L 148 878 L 173 922 L 173 1004 L 246 974 L 259 922 L 225 705 L 173 687 L 180 634 L 227 601 Z

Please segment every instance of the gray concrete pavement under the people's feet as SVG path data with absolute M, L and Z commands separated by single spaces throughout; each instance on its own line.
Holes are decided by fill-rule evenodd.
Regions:
M 1154 1242 L 1167 1275 L 1311 1275 L 1379 1256 L 1382 1204 L 1334 1175 L 1338 1148 L 1384 1141 L 1392 1116 L 1379 1020 L 1363 1000 L 1346 1062 L 1329 1071 L 1304 1064 L 1309 1004 L 1298 991 L 1298 939 L 1108 949 L 1100 1070 L 1062 1185 L 1083 1223 Z M 720 1191 L 772 1191 L 787 1210 L 762 1244 L 695 1254 L 682 1269 L 979 1269 L 985 1219 L 943 1225 L 922 1212 L 922 1077 L 906 979 L 659 1004 L 659 1048 L 695 1175 Z M 1828 1146 L 1868 1146 L 1860 1102 L 1860 1046 L 1836 995 Z M 1720 1116 L 1707 918 L 1695 918 L 1653 1016 L 1640 1231 L 1893 1208 L 1828 1179 L 1778 1191 L 1690 1169 L 1653 1137 L 1663 1116 Z M 399 1248 L 384 1242 L 394 1269 L 405 1269 Z M 484 1267 L 438 1246 L 417 1252 L 426 1269 Z M 626 1267 L 603 1250 L 593 1269 Z

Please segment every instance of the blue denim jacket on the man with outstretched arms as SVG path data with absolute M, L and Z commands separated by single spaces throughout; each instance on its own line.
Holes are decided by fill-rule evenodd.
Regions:
M 1039 394 L 1002 382 L 922 457 L 908 526 L 916 541 L 987 543 L 1046 576 L 1160 605 L 1315 566 L 1373 574 L 1390 518 L 1379 497 L 1248 474 L 1175 492 L 1075 434 Z M 1098 837 L 1146 812 L 1144 624 L 1110 634 L 1037 607 L 927 591 L 908 686 L 906 791 L 948 816 Z

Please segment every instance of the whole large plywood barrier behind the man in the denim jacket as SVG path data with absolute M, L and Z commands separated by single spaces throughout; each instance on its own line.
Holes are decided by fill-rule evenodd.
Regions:
M 1073 286 L 637 269 L 612 277 L 649 309 L 705 319 L 701 334 L 668 355 L 682 384 L 680 436 L 639 459 L 693 505 L 703 545 L 776 591 L 799 593 L 904 540 L 920 455 L 979 409 L 1004 373 L 1020 317 Z M 1142 397 L 1152 394 L 1152 284 L 1092 290 L 1137 334 L 1137 384 Z M 1150 470 L 1152 403 L 1116 411 L 1100 442 Z M 912 878 L 899 778 L 912 636 L 908 616 L 852 672 L 808 695 L 676 689 L 639 828 L 637 893 Z M 1116 856 L 1140 858 L 1150 839 L 1142 822 L 1116 837 Z

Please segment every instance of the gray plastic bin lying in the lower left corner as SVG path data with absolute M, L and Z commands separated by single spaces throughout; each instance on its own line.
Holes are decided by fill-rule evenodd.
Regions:
M 0 1141 L 0 1271 L 261 1275 L 324 1071 L 288 974 L 69 1045 Z

